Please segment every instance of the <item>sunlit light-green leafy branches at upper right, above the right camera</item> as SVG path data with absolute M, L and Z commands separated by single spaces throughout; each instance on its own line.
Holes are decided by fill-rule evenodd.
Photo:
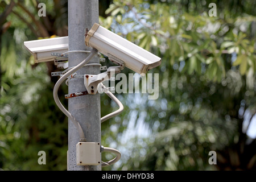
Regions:
M 228 53 L 236 52 L 238 58 L 243 55 L 242 64 L 238 63 L 240 59 L 234 63 L 240 66 L 241 75 L 254 74 L 255 38 L 249 41 L 246 35 L 250 32 L 249 22 L 255 21 L 254 16 L 226 20 L 210 17 L 205 11 L 197 15 L 183 12 L 184 8 L 173 4 L 114 1 L 106 10 L 106 14 L 112 15 L 106 22 L 109 27 L 110 19 L 114 19 L 115 26 L 125 27 L 119 31 L 125 32 L 123 35 L 128 40 L 151 52 L 159 52 L 163 59 L 170 60 L 170 65 L 185 61 L 183 71 L 189 75 L 204 73 L 210 80 L 220 82 L 229 69 L 222 58 L 225 48 Z M 202 72 L 202 65 L 205 72 Z

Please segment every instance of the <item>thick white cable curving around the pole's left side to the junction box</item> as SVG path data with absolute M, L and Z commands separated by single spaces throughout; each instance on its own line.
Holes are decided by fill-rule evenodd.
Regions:
M 65 109 L 65 107 L 61 104 L 59 97 L 58 97 L 58 89 L 60 87 L 60 85 L 62 84 L 62 82 L 69 77 L 70 75 L 72 75 L 73 73 L 75 73 L 77 70 L 79 70 L 81 67 L 83 67 L 85 64 L 89 63 L 89 61 L 93 58 L 93 56 L 95 56 L 98 53 L 97 49 L 92 49 L 90 51 L 90 54 L 88 55 L 88 57 L 86 57 L 86 59 L 84 61 L 82 61 L 80 64 L 76 65 L 76 67 L 72 68 L 71 70 L 69 70 L 67 73 L 65 73 L 62 77 L 60 77 L 60 79 L 56 82 L 54 88 L 53 88 L 53 98 L 56 102 L 56 105 L 60 108 L 61 111 L 63 111 L 63 113 L 65 115 L 67 115 L 67 117 L 69 119 L 71 119 L 71 121 L 73 122 L 73 124 L 76 126 L 77 130 L 79 131 L 79 137 L 80 140 L 84 140 L 85 136 L 84 136 L 84 131 L 82 131 L 82 127 L 80 126 L 79 122 L 76 121 L 76 119 L 73 117 L 73 115 L 71 115 L 71 113 L 69 113 L 69 111 L 67 109 Z

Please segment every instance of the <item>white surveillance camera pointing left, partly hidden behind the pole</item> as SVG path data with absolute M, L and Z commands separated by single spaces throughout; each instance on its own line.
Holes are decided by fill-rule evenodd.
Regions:
M 51 52 L 63 53 L 68 51 L 68 36 L 27 41 L 24 42 L 24 46 L 34 55 L 35 63 L 54 61 L 57 56 L 51 56 Z

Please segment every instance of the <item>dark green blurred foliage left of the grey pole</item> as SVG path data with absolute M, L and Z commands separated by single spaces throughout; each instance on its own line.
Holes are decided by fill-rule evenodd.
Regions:
M 34 56 L 23 46 L 38 35 L 31 34 L 37 28 L 32 22 L 40 21 L 34 16 L 36 1 L 15 2 L 6 18 L 11 25 L 1 35 L 0 169 L 65 170 L 68 119 L 53 100 L 49 65 L 34 64 Z M 46 3 L 50 7 L 51 2 Z M 38 164 L 39 151 L 46 151 L 47 165 Z

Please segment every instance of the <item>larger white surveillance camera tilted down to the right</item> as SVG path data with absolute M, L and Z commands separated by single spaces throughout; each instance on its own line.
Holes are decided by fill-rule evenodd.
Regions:
M 108 56 L 110 61 L 139 74 L 146 73 L 161 64 L 160 57 L 114 34 L 97 23 L 93 24 L 93 27 L 86 35 L 85 44 Z

